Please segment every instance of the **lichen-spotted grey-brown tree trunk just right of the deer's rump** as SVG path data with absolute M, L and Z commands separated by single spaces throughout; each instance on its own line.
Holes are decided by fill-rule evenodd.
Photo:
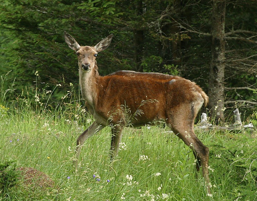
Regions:
M 213 0 L 212 59 L 209 74 L 209 106 L 215 120 L 224 120 L 225 13 L 226 0 Z

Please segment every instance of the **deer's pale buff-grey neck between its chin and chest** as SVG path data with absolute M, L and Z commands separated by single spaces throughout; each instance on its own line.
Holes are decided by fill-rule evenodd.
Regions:
M 82 97 L 92 107 L 94 107 L 95 98 L 97 95 L 97 83 L 99 77 L 100 76 L 98 74 L 97 67 L 96 69 L 92 69 L 89 72 L 84 72 L 81 69 L 79 69 L 79 84 Z

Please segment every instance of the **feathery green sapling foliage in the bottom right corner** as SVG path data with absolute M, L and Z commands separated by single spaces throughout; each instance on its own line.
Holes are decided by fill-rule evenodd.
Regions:
M 227 133 L 223 137 L 216 136 L 218 143 L 210 145 L 210 163 L 215 171 L 221 173 L 216 179 L 224 182 L 225 186 L 230 185 L 229 191 L 233 197 L 254 200 L 257 185 L 257 155 L 254 149 L 257 141 L 245 135 Z M 224 186 L 219 186 L 221 188 Z

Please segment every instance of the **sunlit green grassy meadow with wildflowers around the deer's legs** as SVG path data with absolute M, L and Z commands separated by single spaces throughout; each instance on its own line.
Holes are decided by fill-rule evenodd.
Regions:
M 75 168 L 77 137 L 94 120 L 70 87 L 58 103 L 46 89 L 28 89 L 13 101 L 1 90 L 0 161 L 10 166 L 0 173 L 14 179 L 0 178 L 0 200 L 257 200 L 256 130 L 195 129 L 210 150 L 211 194 L 191 150 L 168 127 L 125 128 L 112 162 L 106 127 L 85 142 Z M 24 185 L 20 167 L 42 171 L 54 185 Z

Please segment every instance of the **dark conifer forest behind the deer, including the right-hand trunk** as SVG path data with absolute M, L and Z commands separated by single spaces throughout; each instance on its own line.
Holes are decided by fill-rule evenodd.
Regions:
M 217 120 L 235 108 L 245 118 L 256 110 L 255 0 L 2 0 L 0 6 L 2 102 L 33 95 L 54 108 L 77 97 L 79 90 L 67 92 L 70 85 L 78 89 L 67 31 L 89 46 L 114 35 L 98 55 L 101 75 L 134 70 L 182 76 L 208 94 L 209 115 Z

